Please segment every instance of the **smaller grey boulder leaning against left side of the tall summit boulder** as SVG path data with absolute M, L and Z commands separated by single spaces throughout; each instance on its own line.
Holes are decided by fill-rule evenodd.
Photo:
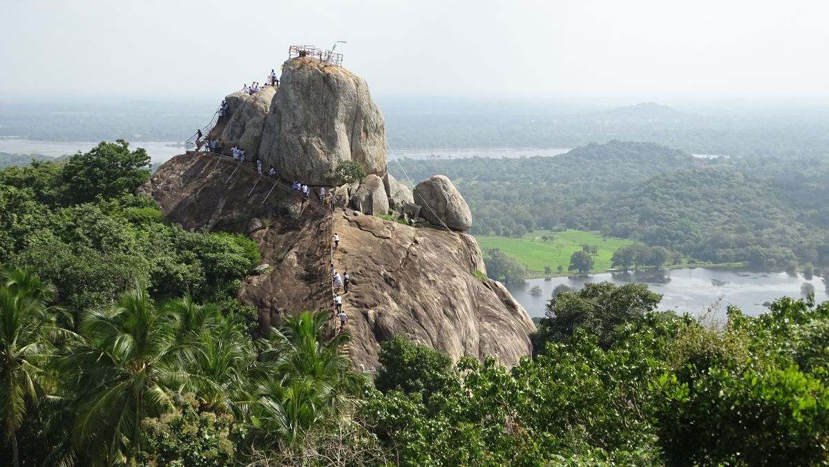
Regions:
M 245 149 L 245 158 L 248 160 L 258 157 L 259 144 L 262 143 L 262 125 L 275 94 L 274 86 L 264 86 L 254 95 L 240 91 L 225 97 L 230 112 L 230 119 L 224 124 L 220 136 L 225 151 L 230 153 L 230 148 L 237 144 Z

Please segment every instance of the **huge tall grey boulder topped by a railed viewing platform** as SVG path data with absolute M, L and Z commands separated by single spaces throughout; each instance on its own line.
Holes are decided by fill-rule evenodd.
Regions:
M 264 120 L 259 156 L 279 176 L 322 185 L 341 161 L 385 174 L 385 120 L 366 80 L 314 58 L 284 63 L 279 92 Z

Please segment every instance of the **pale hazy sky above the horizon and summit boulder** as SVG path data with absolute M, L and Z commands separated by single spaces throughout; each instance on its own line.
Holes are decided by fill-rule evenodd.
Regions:
M 380 96 L 829 99 L 829 2 L 0 0 L 0 95 L 215 97 L 337 51 Z M 341 49 L 342 48 L 342 49 Z

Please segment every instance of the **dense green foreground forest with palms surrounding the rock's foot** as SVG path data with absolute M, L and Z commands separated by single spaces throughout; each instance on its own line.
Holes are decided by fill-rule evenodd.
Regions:
M 393 336 L 372 381 L 330 312 L 255 329 L 255 242 L 167 223 L 148 164 L 117 141 L 0 170 L 3 465 L 829 462 L 829 303 L 715 323 L 588 285 L 516 367 Z

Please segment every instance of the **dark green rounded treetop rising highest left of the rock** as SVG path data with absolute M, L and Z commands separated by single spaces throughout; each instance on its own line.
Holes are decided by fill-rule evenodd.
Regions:
M 101 142 L 88 153 L 70 156 L 61 171 L 70 202 L 81 203 L 96 197 L 120 197 L 150 178 L 150 157 L 143 148 L 129 150 L 124 139 Z

